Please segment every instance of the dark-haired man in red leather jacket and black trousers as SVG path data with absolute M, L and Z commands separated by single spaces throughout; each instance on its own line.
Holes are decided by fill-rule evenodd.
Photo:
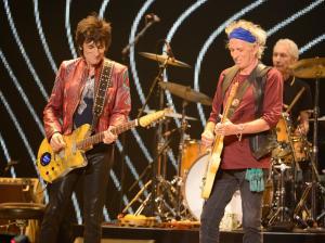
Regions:
M 80 57 L 61 64 L 43 111 L 46 136 L 54 152 L 66 146 L 63 136 L 84 124 L 92 125 L 93 133 L 104 131 L 104 139 L 86 152 L 86 167 L 74 169 L 50 184 L 50 202 L 41 225 L 40 242 L 62 242 L 58 229 L 81 176 L 83 239 L 88 243 L 101 241 L 105 192 L 114 161 L 113 143 L 117 139 L 112 129 L 127 122 L 131 110 L 127 67 L 105 57 L 110 46 L 110 24 L 96 15 L 78 23 L 76 42 Z M 103 75 L 105 72 L 108 75 Z M 104 91 L 103 84 L 106 84 Z M 102 105 L 99 100 L 104 100 Z

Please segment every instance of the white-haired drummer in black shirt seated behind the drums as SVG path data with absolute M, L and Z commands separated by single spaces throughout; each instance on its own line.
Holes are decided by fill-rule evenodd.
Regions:
M 292 103 L 295 97 L 304 88 L 300 98 L 290 110 L 290 118 L 295 127 L 294 136 L 307 136 L 309 117 L 312 106 L 312 95 L 309 85 L 290 73 L 289 66 L 298 61 L 299 50 L 290 39 L 280 39 L 273 48 L 273 66 L 280 71 L 284 79 L 283 103 L 284 112 Z

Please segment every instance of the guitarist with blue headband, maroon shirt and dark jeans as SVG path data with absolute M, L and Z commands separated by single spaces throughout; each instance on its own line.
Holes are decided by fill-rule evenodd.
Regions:
M 243 242 L 260 243 L 262 193 L 271 167 L 271 151 L 259 146 L 256 139 L 275 127 L 281 117 L 283 79 L 277 69 L 260 63 L 266 40 L 260 26 L 240 20 L 230 24 L 225 33 L 235 65 L 219 77 L 212 111 L 202 133 L 206 146 L 213 144 L 214 137 L 224 136 L 224 139 L 222 153 L 214 154 L 221 157 L 221 165 L 204 204 L 199 239 L 200 243 L 219 242 L 224 208 L 234 192 L 239 190 Z M 221 120 L 222 107 L 227 104 L 234 84 L 238 89 L 230 104 L 232 112 L 227 119 Z

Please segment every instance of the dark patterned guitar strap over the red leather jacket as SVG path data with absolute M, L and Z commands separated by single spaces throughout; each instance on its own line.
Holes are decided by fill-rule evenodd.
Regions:
M 99 117 L 104 110 L 105 98 L 107 93 L 108 87 L 112 86 L 112 71 L 113 71 L 114 62 L 110 60 L 104 60 L 103 69 L 100 76 L 100 85 L 98 88 L 98 92 L 95 95 L 94 104 L 93 104 L 93 119 L 92 119 L 92 130 L 94 131 L 95 126 L 98 125 Z

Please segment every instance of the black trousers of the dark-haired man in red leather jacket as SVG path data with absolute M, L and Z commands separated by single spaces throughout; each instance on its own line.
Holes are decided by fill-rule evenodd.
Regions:
M 108 148 L 108 149 L 107 149 Z M 66 232 L 66 213 L 72 193 L 78 180 L 83 177 L 83 242 L 98 243 L 102 236 L 102 217 L 109 168 L 114 161 L 113 145 L 102 144 L 87 152 L 88 165 L 74 169 L 65 177 L 50 184 L 50 202 L 41 223 L 40 242 L 70 242 L 72 233 Z M 65 229 L 62 229 L 62 227 Z M 62 239 L 62 231 L 69 240 Z

